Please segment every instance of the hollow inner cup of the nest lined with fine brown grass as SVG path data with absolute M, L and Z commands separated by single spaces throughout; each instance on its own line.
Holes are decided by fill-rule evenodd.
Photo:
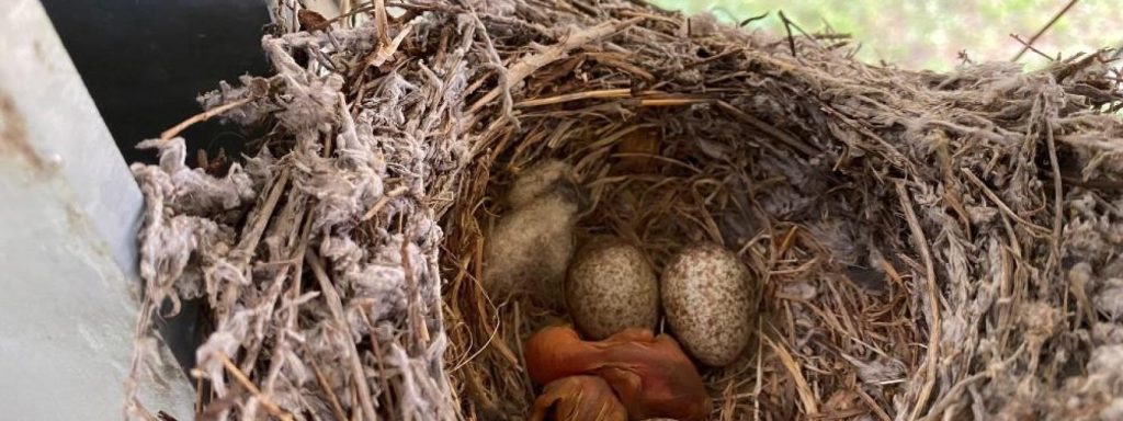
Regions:
M 489 264 L 482 250 L 490 228 L 510 211 L 504 195 L 520 173 L 554 159 L 572 164 L 588 194 L 578 247 L 597 236 L 621 238 L 639 245 L 661 272 L 684 245 L 713 242 L 737 253 L 761 281 L 754 313 L 764 315 L 752 342 L 725 367 L 700 365 L 719 403 L 714 419 L 821 414 L 822 401 L 839 401 L 841 391 L 849 391 L 848 401 L 831 404 L 847 411 L 865 405 L 857 401 L 865 392 L 855 392 L 852 365 L 840 372 L 802 367 L 810 360 L 846 366 L 841 354 L 887 357 L 892 366 L 882 368 L 883 379 L 897 385 L 868 397 L 892 406 L 903 393 L 900 384 L 924 358 L 914 345 L 928 336 L 923 322 L 901 323 L 924 312 L 912 300 L 915 286 L 886 274 L 877 265 L 887 263 L 871 254 L 878 253 L 880 227 L 895 231 L 877 241 L 885 250 L 909 249 L 910 234 L 888 214 L 898 204 L 878 202 L 893 196 L 894 182 L 866 173 L 869 157 L 836 155 L 841 150 L 831 130 L 838 122 L 809 125 L 831 116 L 807 112 L 819 100 L 806 98 L 813 94 L 798 79 L 824 77 L 825 68 L 801 68 L 805 64 L 779 40 L 709 17 L 618 6 L 601 16 L 617 15 L 601 24 L 612 25 L 613 35 L 527 77 L 513 93 L 514 113 L 500 116 L 502 128 L 481 137 L 480 159 L 465 170 L 467 183 L 446 223 L 446 258 L 468 264 L 447 273 L 445 301 L 454 382 L 467 412 L 524 417 L 540 386 L 527 377 L 522 342 L 541 327 L 572 321 L 531 294 L 490 296 L 478 282 Z M 629 20 L 642 13 L 652 19 Z M 793 42 L 814 60 L 869 71 L 824 57 L 834 53 L 818 42 Z M 772 83 L 774 77 L 795 81 Z M 821 313 L 794 314 L 810 309 Z M 664 323 L 660 317 L 659 330 L 669 329 Z M 820 344 L 800 349 L 796 338 L 809 336 Z M 855 339 L 869 348 L 856 347 Z M 812 384 L 831 392 L 822 396 Z

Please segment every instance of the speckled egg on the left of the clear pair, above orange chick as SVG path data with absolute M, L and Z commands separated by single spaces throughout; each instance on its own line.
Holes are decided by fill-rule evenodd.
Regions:
M 600 340 L 626 328 L 652 329 L 659 317 L 659 283 L 636 246 L 595 238 L 577 251 L 566 277 L 574 322 Z

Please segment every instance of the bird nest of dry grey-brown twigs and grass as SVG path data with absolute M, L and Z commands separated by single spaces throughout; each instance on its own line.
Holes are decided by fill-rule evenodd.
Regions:
M 134 379 L 155 311 L 201 298 L 201 419 L 526 417 L 523 340 L 566 315 L 481 280 L 549 158 L 587 192 L 578 242 L 658 269 L 712 241 L 759 280 L 749 349 L 702 369 L 713 419 L 1123 414 L 1107 54 L 941 74 L 633 1 L 391 6 L 300 13 L 263 40 L 276 74 L 201 98 L 184 125 L 264 134 L 244 163 L 188 167 L 184 125 L 143 144 Z

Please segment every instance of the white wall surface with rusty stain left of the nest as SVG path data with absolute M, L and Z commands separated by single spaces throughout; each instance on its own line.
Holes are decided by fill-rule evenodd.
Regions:
M 0 0 L 0 419 L 121 419 L 140 193 L 37 0 Z M 168 361 L 146 404 L 190 420 Z

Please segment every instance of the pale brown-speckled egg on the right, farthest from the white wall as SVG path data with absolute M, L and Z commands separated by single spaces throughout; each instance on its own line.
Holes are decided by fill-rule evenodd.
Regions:
M 683 348 L 702 364 L 732 363 L 749 342 L 758 286 L 724 248 L 690 246 L 663 273 L 663 311 Z

